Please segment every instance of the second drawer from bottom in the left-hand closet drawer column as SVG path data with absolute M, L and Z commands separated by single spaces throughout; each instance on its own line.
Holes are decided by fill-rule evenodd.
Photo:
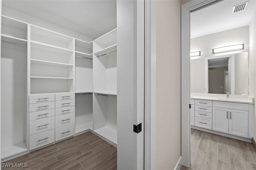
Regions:
M 55 128 L 54 117 L 47 117 L 44 119 L 31 120 L 29 121 L 29 135 L 48 131 Z

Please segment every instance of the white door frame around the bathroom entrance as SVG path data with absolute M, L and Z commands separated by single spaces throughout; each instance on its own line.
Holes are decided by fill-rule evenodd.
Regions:
M 190 167 L 190 13 L 222 0 L 192 0 L 181 6 L 181 155 Z

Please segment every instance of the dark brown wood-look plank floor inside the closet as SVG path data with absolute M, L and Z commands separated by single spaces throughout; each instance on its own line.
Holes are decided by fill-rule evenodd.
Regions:
M 116 170 L 116 158 L 116 147 L 86 132 L 4 163 L 27 163 L 14 168 L 26 170 Z

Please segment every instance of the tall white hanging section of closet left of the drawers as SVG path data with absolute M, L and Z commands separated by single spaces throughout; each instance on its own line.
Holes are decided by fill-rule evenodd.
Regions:
M 26 23 L 2 16 L 1 158 L 27 152 Z

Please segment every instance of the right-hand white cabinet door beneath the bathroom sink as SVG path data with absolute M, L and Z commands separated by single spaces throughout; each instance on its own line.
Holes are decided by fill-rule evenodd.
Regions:
M 229 109 L 229 134 L 248 138 L 248 111 Z

